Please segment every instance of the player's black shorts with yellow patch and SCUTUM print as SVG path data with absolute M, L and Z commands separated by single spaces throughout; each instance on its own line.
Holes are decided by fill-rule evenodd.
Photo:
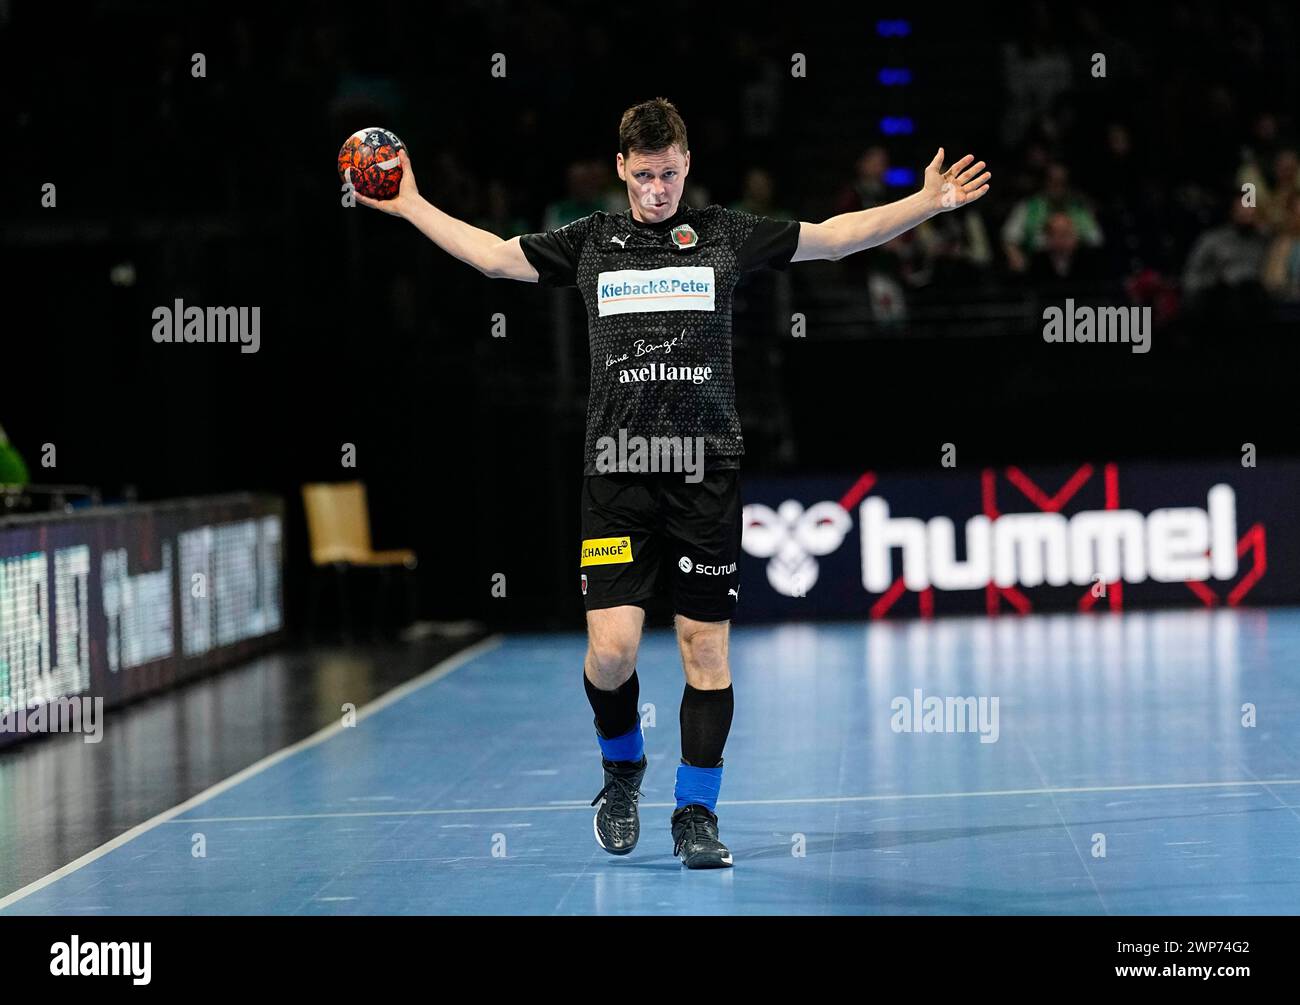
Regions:
M 676 614 L 727 621 L 740 599 L 740 472 L 588 475 L 582 478 L 586 610 L 644 607 L 672 590 Z

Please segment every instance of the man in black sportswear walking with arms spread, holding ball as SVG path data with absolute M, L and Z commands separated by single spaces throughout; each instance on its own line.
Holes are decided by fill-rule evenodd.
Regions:
M 406 150 L 399 157 L 396 196 L 378 202 L 358 192 L 358 202 L 410 221 L 484 276 L 576 286 L 586 304 L 592 385 L 580 585 L 584 686 L 604 770 L 593 802 L 599 803 L 595 840 L 611 854 L 627 854 L 640 837 L 646 758 L 637 650 L 645 605 L 666 579 L 686 677 L 673 854 L 690 868 L 729 867 L 715 810 L 733 710 L 728 629 L 740 593 L 744 443 L 732 381 L 733 290 L 753 269 L 837 260 L 883 244 L 975 202 L 991 176 L 970 155 L 944 170 L 940 148 L 919 191 L 822 224 L 719 205 L 693 209 L 681 204 L 690 173 L 686 126 L 656 98 L 629 108 L 619 124 L 615 166 L 628 187 L 627 211 L 503 241 L 421 199 Z M 702 442 L 702 469 L 684 478 L 641 465 L 611 468 L 608 446 L 633 438 Z

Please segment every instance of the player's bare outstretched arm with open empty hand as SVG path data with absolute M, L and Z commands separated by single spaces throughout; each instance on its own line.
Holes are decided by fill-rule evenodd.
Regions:
M 790 261 L 837 261 L 855 251 L 893 241 L 932 216 L 974 203 L 988 191 L 988 179 L 993 177 L 989 172 L 980 174 L 984 161 L 972 164 L 974 160 L 967 153 L 942 170 L 944 148 L 940 147 L 926 168 L 920 190 L 906 199 L 832 216 L 824 224 L 801 222 L 800 246 Z

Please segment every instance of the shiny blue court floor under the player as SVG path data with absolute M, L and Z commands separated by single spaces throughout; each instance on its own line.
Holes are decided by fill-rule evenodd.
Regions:
M 1297 610 L 737 628 L 736 867 L 706 872 L 668 833 L 668 629 L 638 670 L 641 845 L 597 846 L 584 646 L 482 644 L 3 913 L 1300 913 Z M 927 731 L 928 698 L 983 719 Z

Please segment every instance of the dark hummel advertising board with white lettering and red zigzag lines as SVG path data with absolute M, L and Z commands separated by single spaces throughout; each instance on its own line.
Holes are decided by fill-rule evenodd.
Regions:
M 1300 601 L 1300 463 L 746 478 L 737 620 Z

